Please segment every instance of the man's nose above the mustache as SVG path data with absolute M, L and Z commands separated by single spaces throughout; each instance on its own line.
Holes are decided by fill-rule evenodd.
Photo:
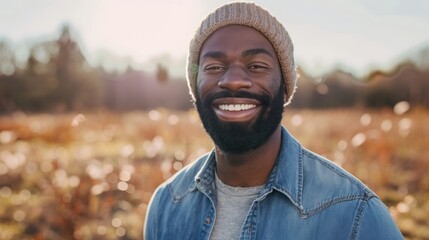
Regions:
M 230 91 L 238 91 L 242 88 L 252 87 L 252 81 L 241 66 L 231 66 L 218 82 L 218 86 Z

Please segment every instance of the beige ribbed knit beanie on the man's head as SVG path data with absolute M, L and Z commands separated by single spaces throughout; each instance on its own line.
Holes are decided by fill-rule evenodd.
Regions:
M 223 5 L 209 14 L 202 22 L 189 44 L 186 63 L 189 91 L 192 100 L 197 95 L 198 61 L 201 47 L 216 30 L 228 25 L 244 25 L 259 31 L 271 42 L 280 63 L 282 79 L 285 82 L 285 105 L 289 104 L 296 87 L 296 68 L 293 44 L 283 25 L 267 10 L 254 3 L 234 2 Z

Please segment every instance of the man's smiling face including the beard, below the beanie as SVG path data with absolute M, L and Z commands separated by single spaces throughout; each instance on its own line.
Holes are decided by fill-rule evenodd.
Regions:
M 265 143 L 280 124 L 284 95 L 277 55 L 258 31 L 227 26 L 204 43 L 196 107 L 223 152 L 244 153 Z

